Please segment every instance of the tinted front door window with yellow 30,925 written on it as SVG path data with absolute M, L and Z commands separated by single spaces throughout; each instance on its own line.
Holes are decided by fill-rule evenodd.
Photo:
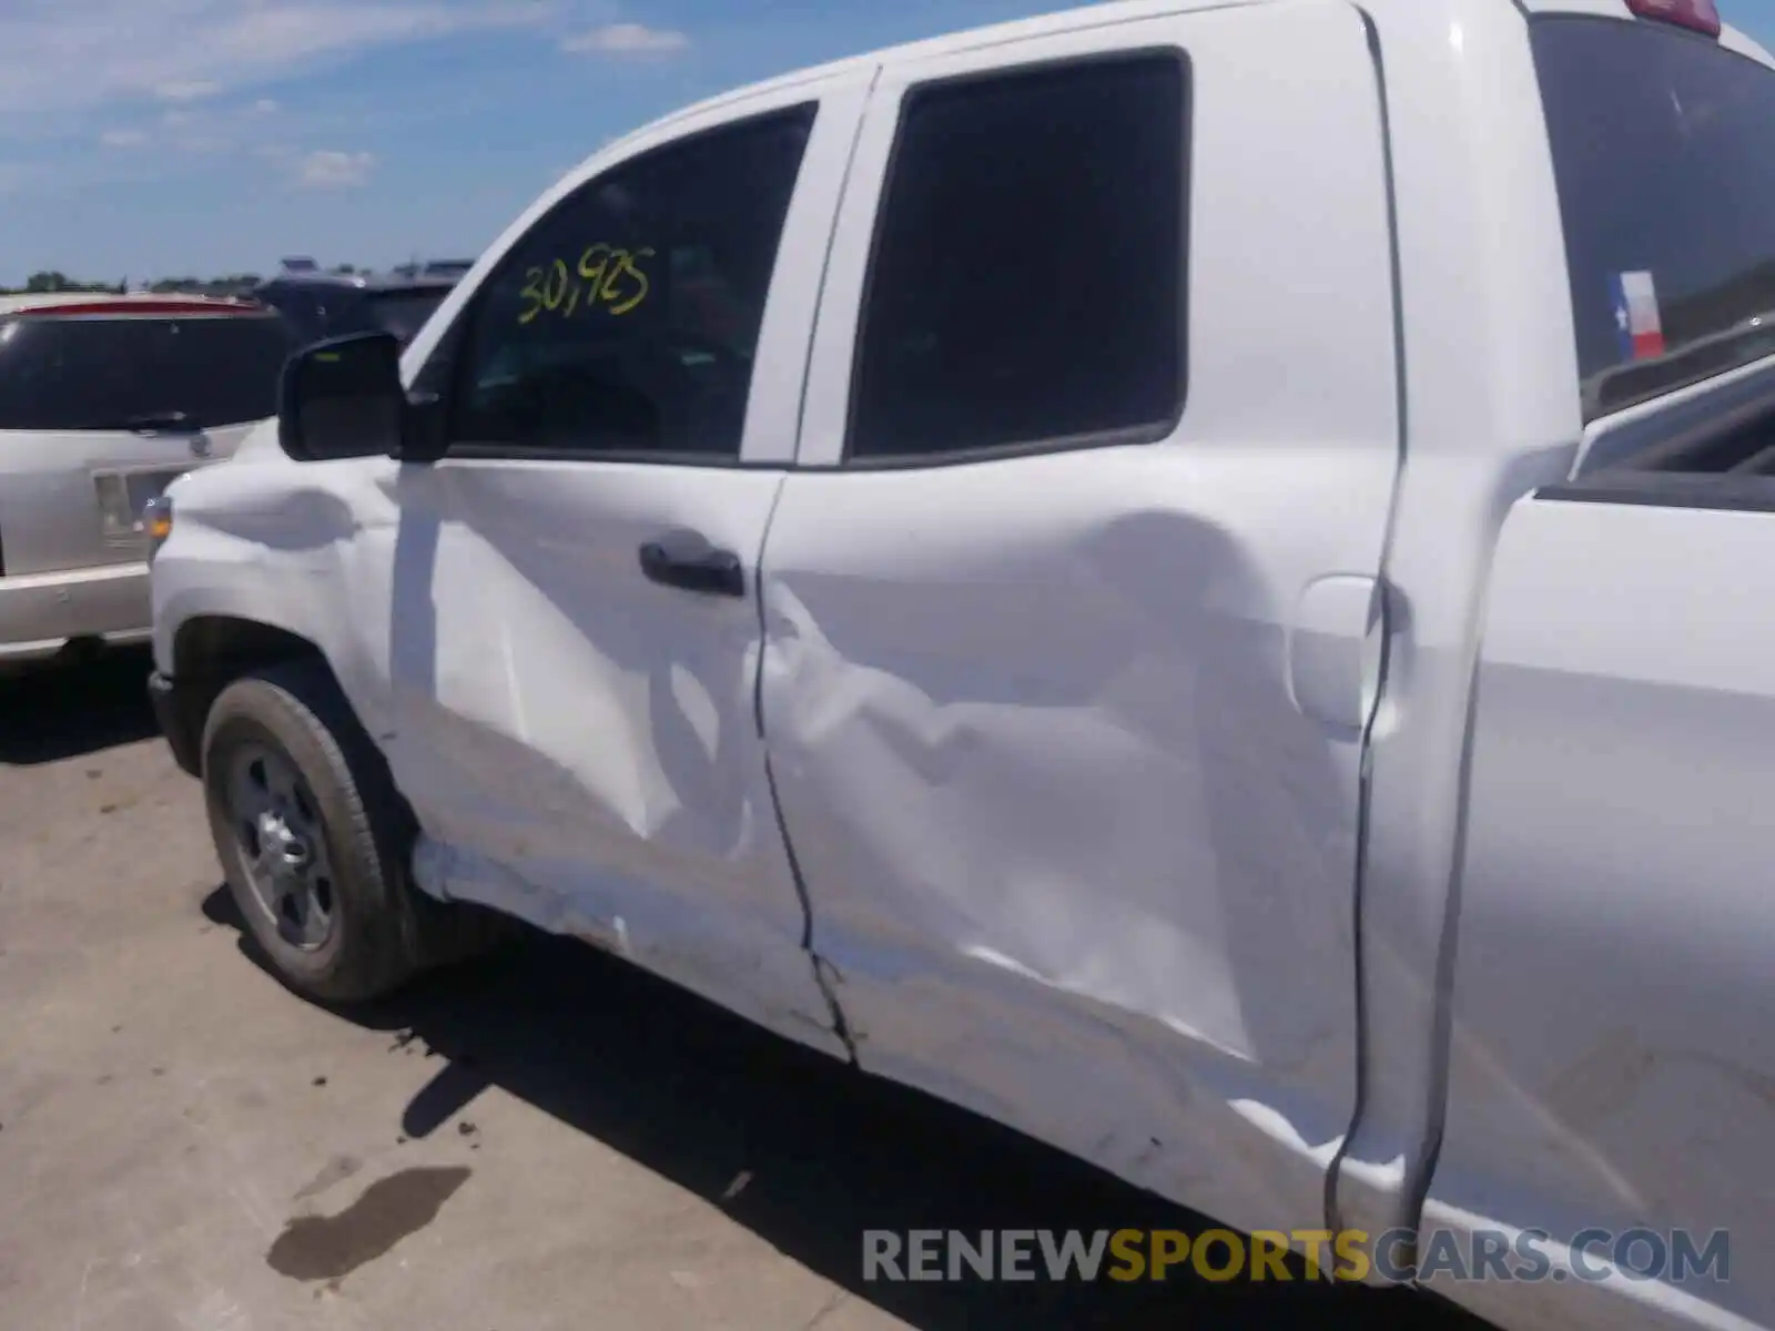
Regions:
M 753 351 L 813 108 L 591 181 L 477 295 L 453 438 L 737 456 Z

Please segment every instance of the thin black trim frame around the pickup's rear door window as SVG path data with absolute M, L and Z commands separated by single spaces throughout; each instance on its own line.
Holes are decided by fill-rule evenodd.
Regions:
M 1118 429 L 1093 429 L 1077 435 L 1051 435 L 1015 444 L 990 444 L 973 449 L 951 449 L 946 453 L 902 453 L 859 458 L 854 453 L 857 437 L 857 403 L 863 380 L 863 339 L 870 327 L 870 312 L 875 303 L 875 280 L 880 270 L 882 236 L 886 231 L 888 209 L 893 206 L 895 183 L 903 167 L 907 114 L 921 99 L 934 92 L 946 92 L 957 87 L 980 83 L 1003 83 L 1030 75 L 1044 75 L 1060 69 L 1076 69 L 1093 64 L 1129 64 L 1141 59 L 1166 59 L 1177 66 L 1182 78 L 1182 161 L 1179 163 L 1179 240 L 1182 254 L 1177 268 L 1177 396 L 1172 413 L 1163 422 L 1122 426 Z M 1189 275 L 1193 257 L 1193 215 L 1195 197 L 1195 124 L 1196 124 L 1196 78 L 1195 62 L 1187 48 L 1177 43 L 1150 43 L 1141 46 L 1118 46 L 1081 55 L 1060 55 L 1049 59 L 1024 60 L 1019 64 L 990 66 L 987 69 L 967 69 L 958 75 L 939 75 L 937 78 L 909 83 L 900 94 L 896 112 L 895 140 L 888 151 L 888 165 L 882 172 L 880 201 L 870 224 L 870 256 L 863 275 L 863 298 L 857 305 L 857 327 L 850 344 L 850 385 L 845 408 L 845 438 L 836 463 L 801 465 L 801 470 L 843 470 L 843 472 L 880 472 L 880 470 L 918 470 L 932 467 L 966 467 L 973 463 L 1003 461 L 1008 458 L 1033 458 L 1049 453 L 1079 453 L 1085 449 L 1109 449 L 1127 445 L 1159 444 L 1177 433 L 1184 412 L 1189 405 Z

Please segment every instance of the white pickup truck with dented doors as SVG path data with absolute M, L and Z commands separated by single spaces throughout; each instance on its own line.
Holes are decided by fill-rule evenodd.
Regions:
M 692 106 L 170 490 L 162 726 L 318 999 L 517 916 L 1512 1331 L 1775 1326 L 1771 163 L 1708 0 Z

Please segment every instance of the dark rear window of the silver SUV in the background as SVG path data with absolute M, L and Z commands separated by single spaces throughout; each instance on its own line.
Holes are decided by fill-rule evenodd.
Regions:
M 0 429 L 201 426 L 277 415 L 293 337 L 275 314 L 0 319 Z

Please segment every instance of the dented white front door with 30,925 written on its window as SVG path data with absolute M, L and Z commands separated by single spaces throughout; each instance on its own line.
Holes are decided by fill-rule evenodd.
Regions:
M 861 99 L 801 83 L 643 138 L 522 229 L 428 351 L 449 438 L 394 481 L 387 742 L 428 889 L 840 1056 L 756 717 L 801 382 L 753 366 L 806 346 L 816 287 L 774 270 L 831 232 Z

